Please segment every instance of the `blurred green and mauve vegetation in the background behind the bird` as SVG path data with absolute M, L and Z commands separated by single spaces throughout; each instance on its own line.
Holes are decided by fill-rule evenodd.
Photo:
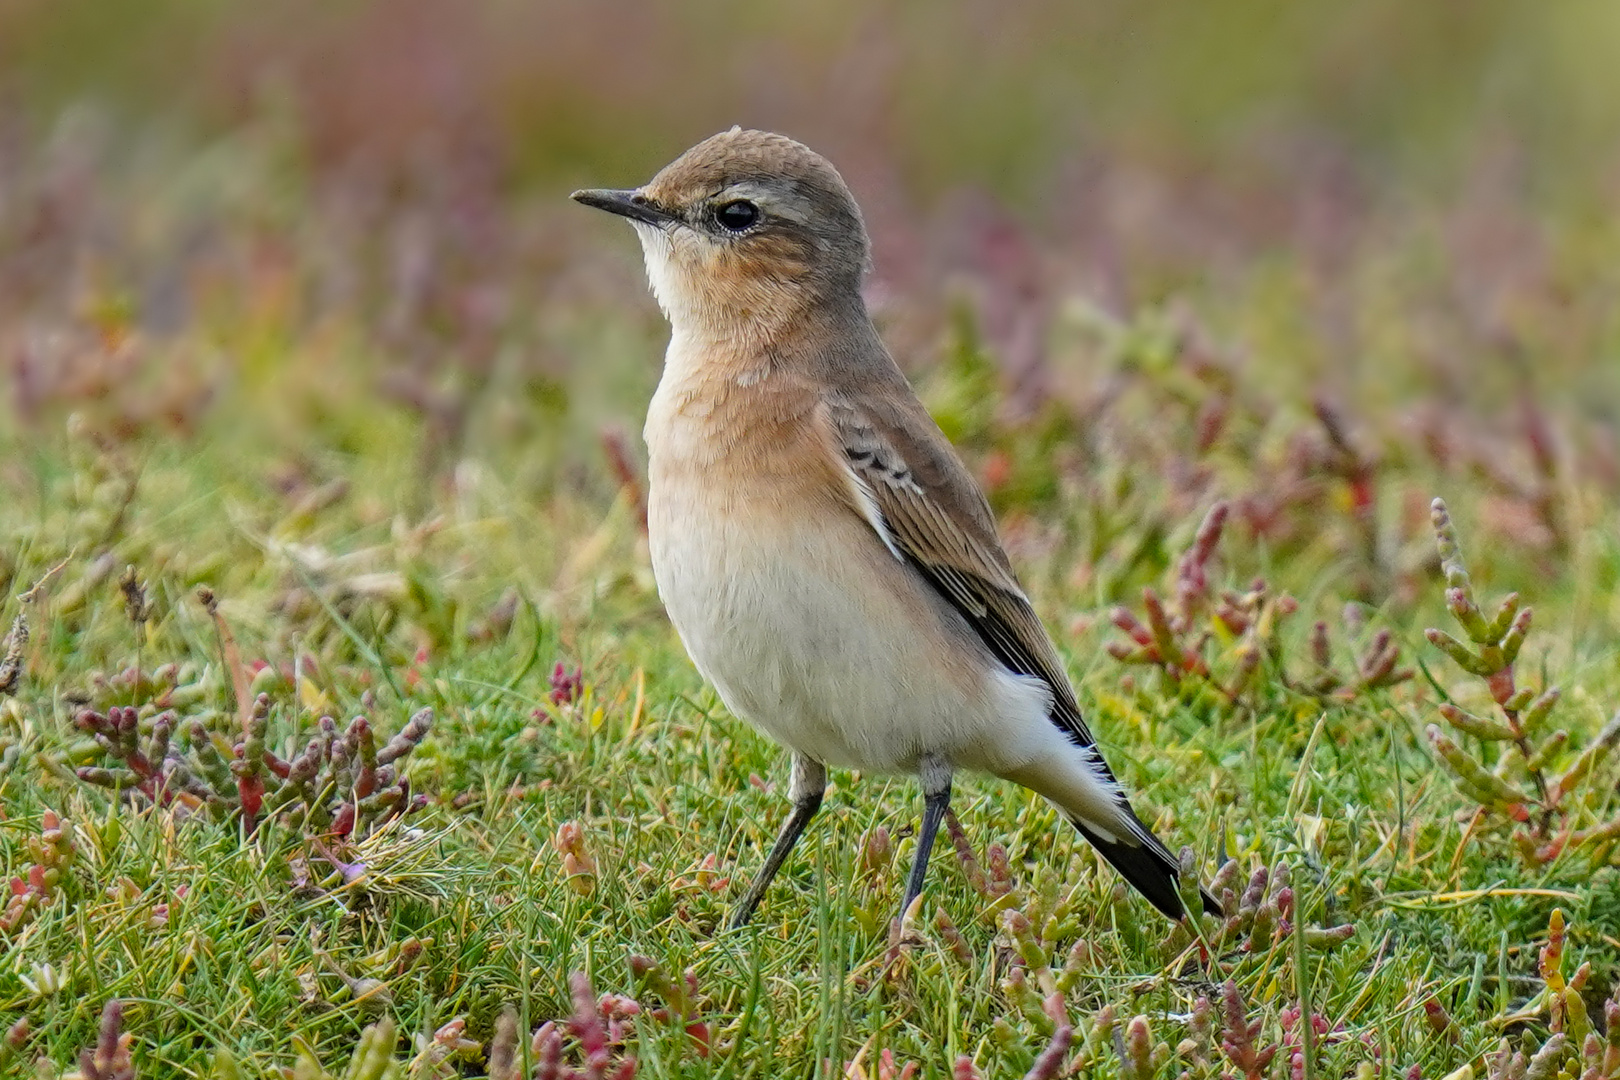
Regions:
M 1332 499 L 1382 596 L 1468 483 L 1545 568 L 1620 491 L 1617 55 L 1602 0 L 3 0 L 5 423 L 599 505 L 664 329 L 565 196 L 742 123 L 842 168 L 1003 513 Z

